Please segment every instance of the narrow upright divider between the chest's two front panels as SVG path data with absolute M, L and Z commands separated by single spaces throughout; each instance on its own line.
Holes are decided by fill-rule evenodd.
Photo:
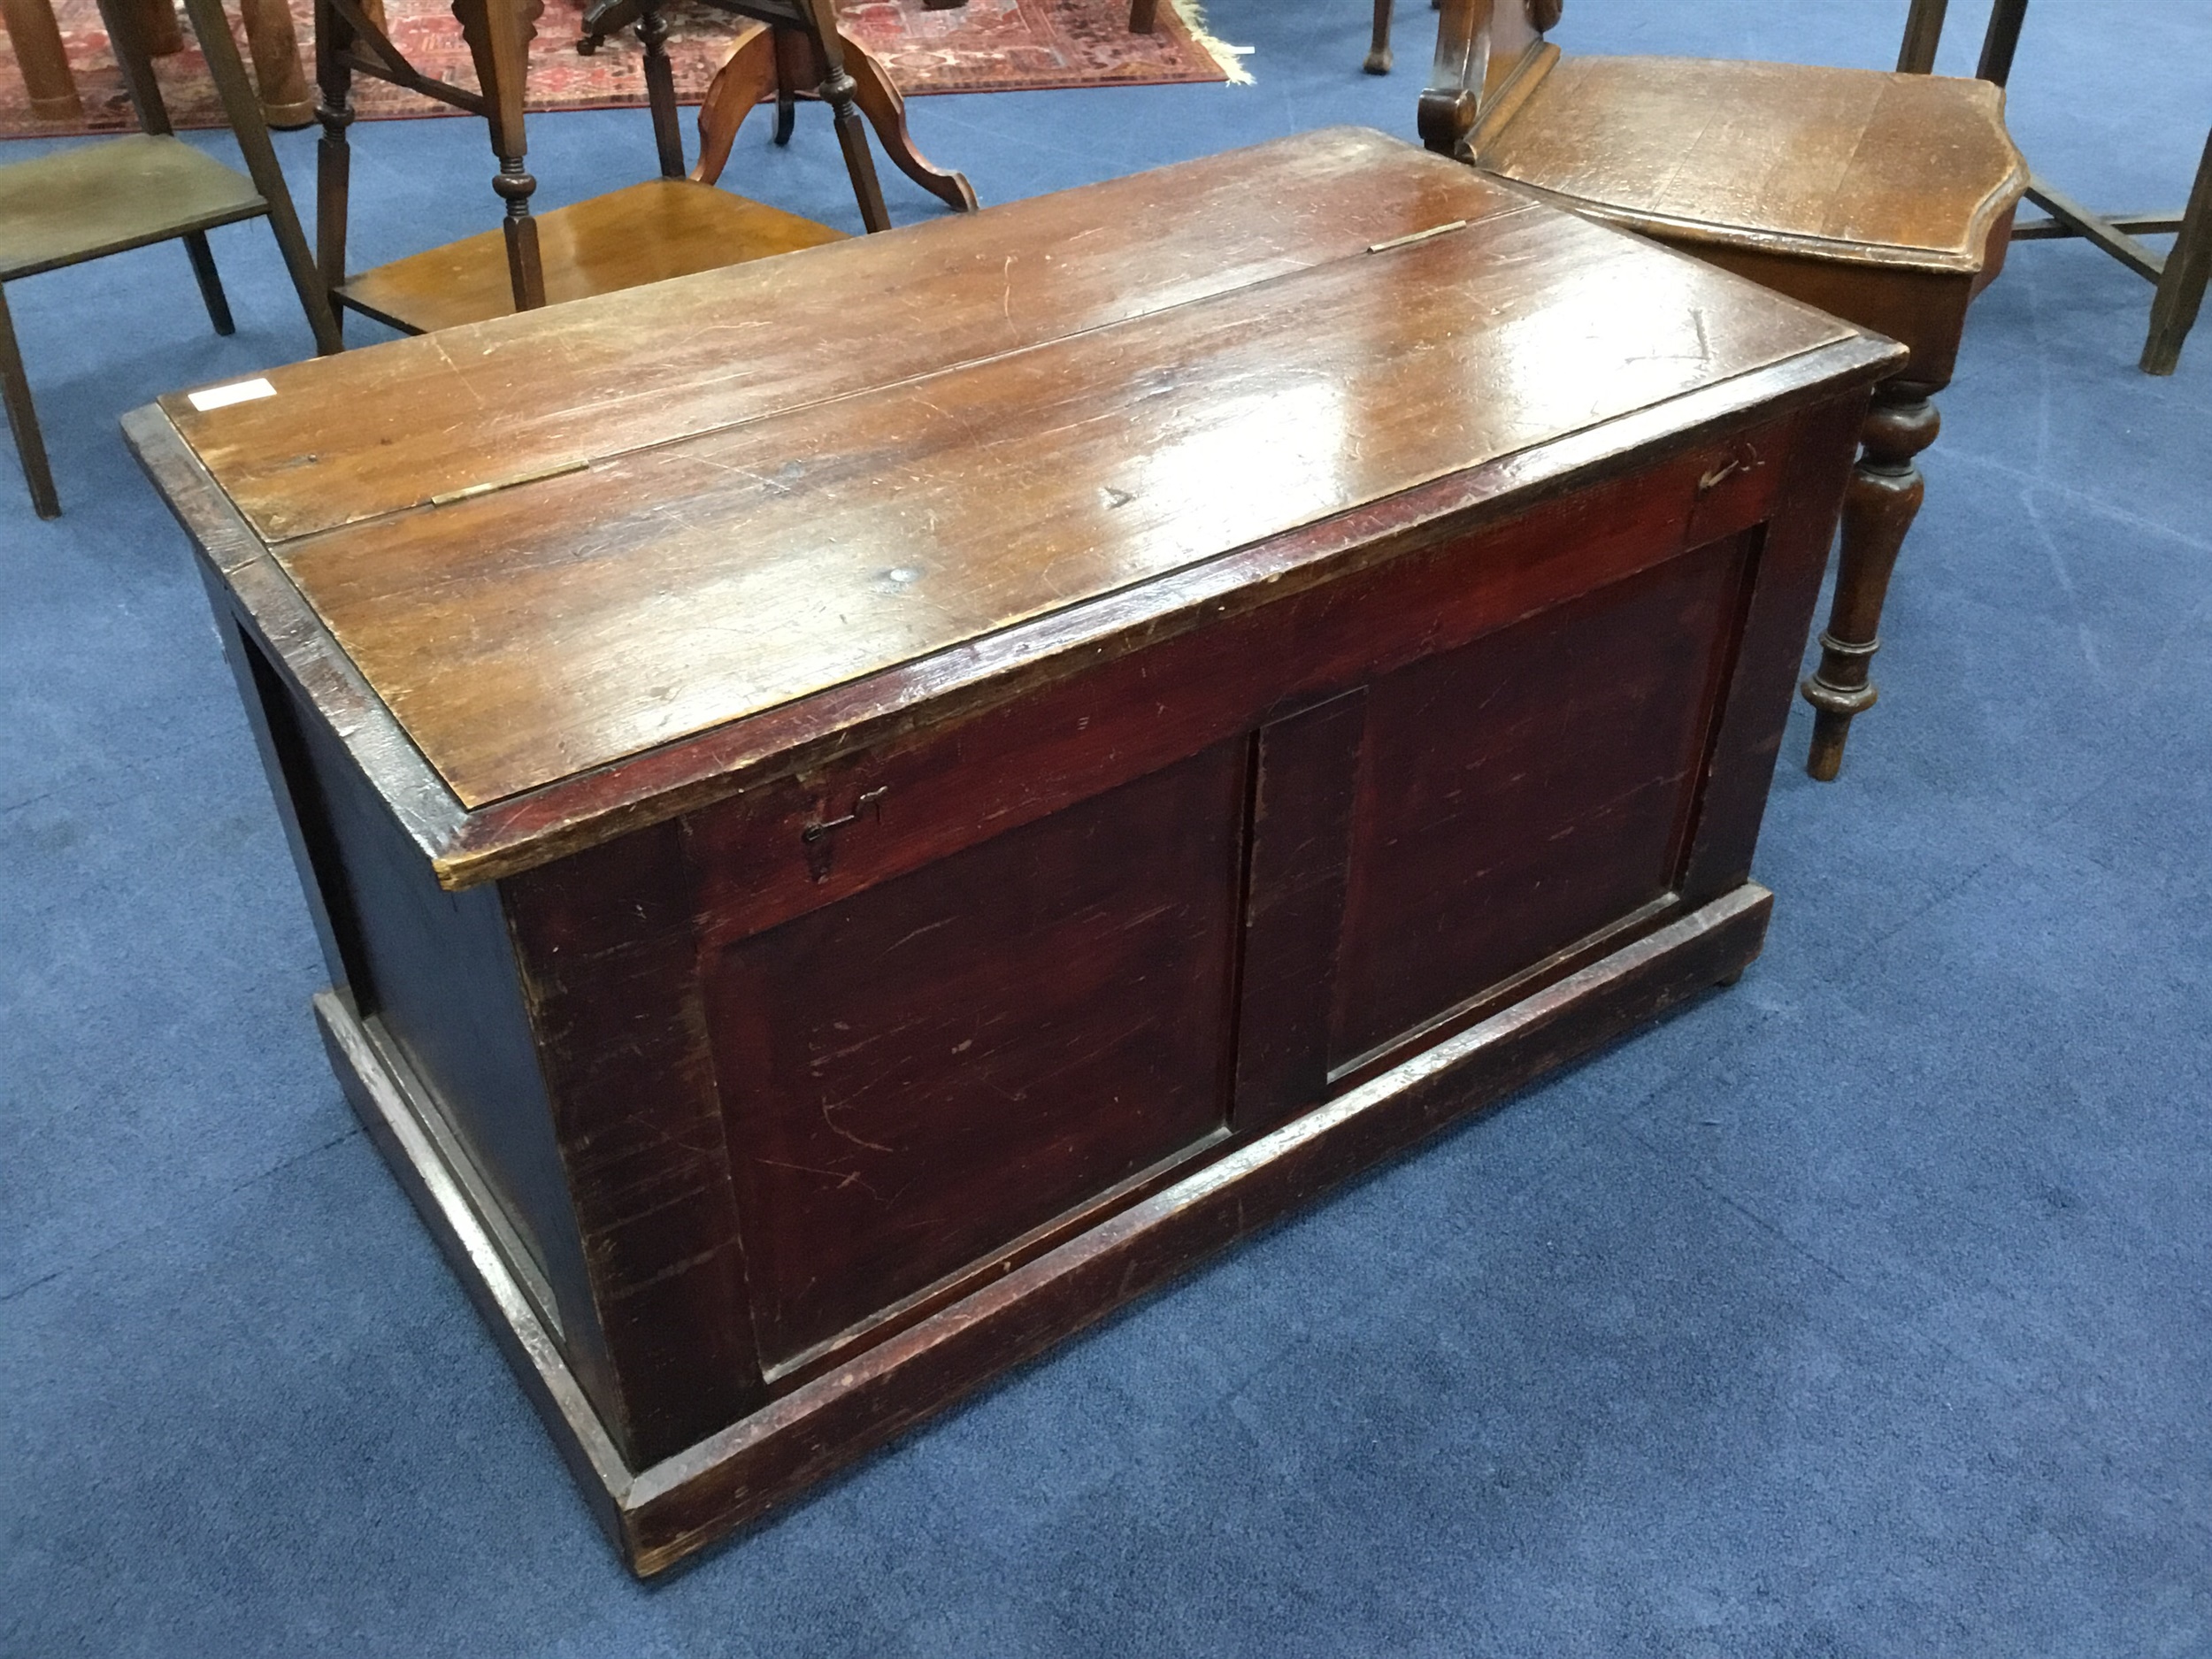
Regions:
M 1259 728 L 1237 1011 L 1237 1133 L 1329 1088 L 1329 1000 L 1345 920 L 1367 688 Z

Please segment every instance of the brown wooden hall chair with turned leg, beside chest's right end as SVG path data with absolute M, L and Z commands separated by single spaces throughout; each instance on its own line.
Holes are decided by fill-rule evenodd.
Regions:
M 1997 274 L 2028 181 L 1982 80 L 1692 58 L 1562 58 L 1557 0 L 1444 0 L 1420 95 L 1431 150 L 1637 230 L 1909 352 L 1876 387 L 1843 502 L 1836 599 L 1805 770 L 1829 781 L 1905 533 L 1929 398 L 1951 380 L 1969 301 Z

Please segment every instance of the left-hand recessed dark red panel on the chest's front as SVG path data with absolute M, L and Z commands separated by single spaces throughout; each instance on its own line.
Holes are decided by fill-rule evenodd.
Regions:
M 710 960 L 772 1367 L 1221 1130 L 1243 790 L 1223 743 Z

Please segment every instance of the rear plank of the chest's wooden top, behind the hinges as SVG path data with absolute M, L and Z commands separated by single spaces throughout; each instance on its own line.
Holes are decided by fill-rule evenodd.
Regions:
M 1254 164 L 1252 157 L 1265 157 Z M 933 219 L 270 372 L 161 409 L 268 540 L 526 478 L 1248 288 L 1453 219 L 1522 212 L 1360 128 Z M 863 341 L 854 316 L 878 319 Z M 484 420 L 498 409 L 495 422 Z

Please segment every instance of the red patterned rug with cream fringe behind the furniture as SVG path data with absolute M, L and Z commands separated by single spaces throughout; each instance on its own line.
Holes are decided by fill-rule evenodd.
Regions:
M 1181 2 L 1181 0 L 1177 0 Z M 1128 31 L 1128 0 L 969 0 L 958 11 L 925 11 L 920 0 L 845 0 L 838 15 L 845 31 L 891 66 L 905 93 L 1006 93 L 1042 86 L 1157 86 L 1166 82 L 1230 80 L 1223 60 L 1203 31 L 1177 13 L 1177 2 L 1159 9 L 1150 35 Z M 1194 7 L 1183 7 L 1194 13 Z M 307 0 L 292 0 L 301 58 L 314 62 L 314 27 Z M 387 0 L 394 44 L 416 69 L 438 80 L 473 86 L 460 27 L 442 0 Z M 595 55 L 580 58 L 582 0 L 546 0 L 531 44 L 531 108 L 628 108 L 646 102 L 639 46 L 630 35 L 608 40 Z M 668 53 L 675 58 L 677 93 L 697 102 L 721 64 L 730 38 L 743 27 L 728 13 L 695 4 L 672 4 Z M 0 35 L 0 137 L 60 137 L 69 133 L 115 133 L 135 126 L 122 75 L 108 55 L 95 0 L 55 0 L 55 18 L 69 44 L 69 62 L 84 100 L 84 119 L 40 122 L 22 86 L 15 58 Z M 232 18 L 232 29 L 237 20 Z M 243 38 L 241 38 L 243 51 Z M 206 64 L 186 35 L 186 49 L 157 58 L 155 71 L 177 126 L 221 126 L 221 106 Z M 416 93 L 356 77 L 354 108 L 365 119 L 403 115 L 451 115 Z

